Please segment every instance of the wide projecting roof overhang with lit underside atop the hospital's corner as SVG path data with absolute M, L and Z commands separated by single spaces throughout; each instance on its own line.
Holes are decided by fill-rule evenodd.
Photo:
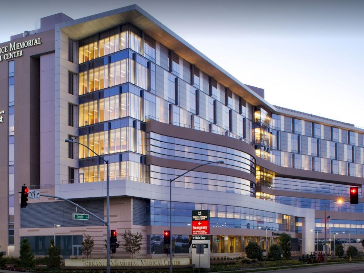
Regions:
M 97 32 L 116 27 L 121 24 L 130 23 L 144 31 L 147 35 L 173 50 L 187 62 L 194 64 L 198 69 L 212 76 L 223 86 L 230 88 L 238 96 L 253 105 L 265 105 L 270 111 L 276 111 L 274 106 L 270 105 L 263 98 L 257 95 L 245 84 L 234 78 L 228 72 L 219 67 L 212 60 L 207 58 L 196 48 L 191 46 L 176 33 L 171 31 L 161 22 L 149 15 L 146 11 L 137 5 L 114 9 L 112 11 L 87 16 L 81 19 L 71 20 L 59 24 L 70 38 L 80 40 Z

